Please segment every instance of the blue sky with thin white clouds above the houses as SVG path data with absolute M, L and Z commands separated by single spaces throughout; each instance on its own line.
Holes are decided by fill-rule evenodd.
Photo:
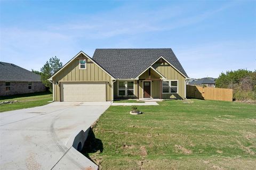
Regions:
M 95 48 L 172 48 L 191 78 L 256 68 L 256 1 L 1 1 L 0 57 L 39 70 Z

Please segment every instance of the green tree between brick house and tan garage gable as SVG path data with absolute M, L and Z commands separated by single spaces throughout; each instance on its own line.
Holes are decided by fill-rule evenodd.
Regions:
M 52 92 L 52 83 L 48 80 L 55 72 L 62 67 L 62 62 L 59 58 L 52 57 L 49 62 L 46 61 L 44 66 L 41 68 L 41 81 L 47 89 Z

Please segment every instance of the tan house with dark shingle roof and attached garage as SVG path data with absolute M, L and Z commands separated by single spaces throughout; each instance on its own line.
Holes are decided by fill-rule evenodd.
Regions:
M 187 73 L 171 48 L 79 52 L 49 79 L 55 101 L 186 98 Z

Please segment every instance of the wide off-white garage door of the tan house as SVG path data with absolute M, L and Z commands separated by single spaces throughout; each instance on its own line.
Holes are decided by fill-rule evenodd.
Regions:
M 61 101 L 106 101 L 106 82 L 63 82 Z

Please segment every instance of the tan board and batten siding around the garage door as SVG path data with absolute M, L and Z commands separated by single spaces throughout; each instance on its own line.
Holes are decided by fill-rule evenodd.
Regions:
M 79 69 L 79 59 L 86 58 L 86 69 Z M 64 67 L 57 73 L 52 81 L 54 83 L 54 100 L 60 101 L 60 83 L 61 82 L 86 82 L 86 81 L 104 81 L 106 82 L 106 100 L 112 100 L 113 86 L 111 77 L 103 71 L 98 65 L 94 64 L 89 58 L 83 54 L 79 55 L 75 60 Z M 56 84 L 59 82 L 59 84 Z

